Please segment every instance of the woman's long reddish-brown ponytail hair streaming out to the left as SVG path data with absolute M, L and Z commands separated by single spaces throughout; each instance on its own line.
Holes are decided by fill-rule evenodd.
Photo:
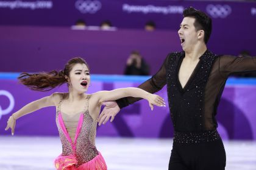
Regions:
M 31 90 L 35 91 L 49 91 L 53 88 L 62 85 L 63 83 L 68 82 L 65 79 L 65 76 L 69 77 L 69 73 L 74 65 L 77 63 L 85 64 L 89 69 L 87 62 L 81 57 L 71 58 L 68 63 L 66 63 L 65 68 L 60 71 L 50 71 L 48 73 L 38 73 L 38 74 L 29 74 L 21 73 L 18 77 L 23 85 L 26 85 Z

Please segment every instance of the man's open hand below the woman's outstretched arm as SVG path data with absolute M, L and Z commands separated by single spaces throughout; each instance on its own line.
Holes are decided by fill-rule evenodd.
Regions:
M 99 126 L 101 126 L 101 124 L 105 124 L 110 118 L 110 116 L 110 122 L 112 122 L 115 119 L 116 114 L 120 111 L 118 104 L 116 104 L 116 102 L 114 101 L 103 102 L 102 105 L 105 105 L 105 107 L 98 118 Z

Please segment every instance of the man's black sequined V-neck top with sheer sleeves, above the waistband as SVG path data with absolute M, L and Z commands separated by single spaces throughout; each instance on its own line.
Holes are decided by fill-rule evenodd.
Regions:
M 182 88 L 178 73 L 184 57 L 185 52 L 168 54 L 159 71 L 139 88 L 155 93 L 167 84 L 169 110 L 176 132 L 216 130 L 215 115 L 227 78 L 232 73 L 255 71 L 256 58 L 215 55 L 207 50 Z M 116 102 L 123 108 L 138 100 L 140 98 L 126 97 Z

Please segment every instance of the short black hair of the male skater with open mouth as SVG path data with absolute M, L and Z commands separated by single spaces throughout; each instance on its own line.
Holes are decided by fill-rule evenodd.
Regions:
M 207 44 L 212 33 L 212 19 L 201 10 L 189 7 L 183 10 L 183 17 L 195 18 L 194 27 L 196 30 L 204 30 L 204 42 Z

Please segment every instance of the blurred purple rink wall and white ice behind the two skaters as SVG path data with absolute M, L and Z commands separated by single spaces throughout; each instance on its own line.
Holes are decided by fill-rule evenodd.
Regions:
M 194 7 L 212 18 L 208 49 L 256 55 L 256 1 L 74 0 L 0 1 L 0 169 L 54 169 L 61 152 L 55 108 L 7 119 L 41 93 L 20 85 L 22 72 L 63 69 L 83 57 L 91 70 L 89 93 L 137 87 L 156 73 L 169 52 L 182 51 L 177 34 L 182 12 Z M 227 169 L 256 169 L 255 73 L 233 75 L 218 108 Z M 166 87 L 158 92 L 168 101 Z M 173 129 L 169 108 L 151 112 L 146 101 L 121 110 L 98 127 L 97 144 L 109 169 L 168 169 Z

